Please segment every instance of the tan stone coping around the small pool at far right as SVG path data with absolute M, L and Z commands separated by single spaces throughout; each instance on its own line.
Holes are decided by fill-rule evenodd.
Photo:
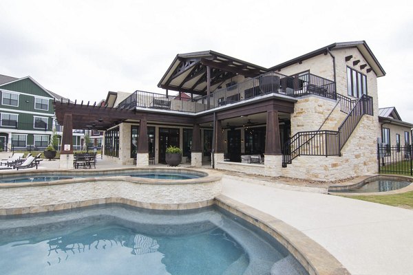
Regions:
M 336 190 L 348 190 L 352 188 L 359 188 L 363 186 L 364 184 L 367 184 L 370 181 L 375 181 L 379 179 L 388 179 L 388 180 L 401 180 L 401 181 L 410 181 L 411 184 L 400 188 L 396 190 L 390 190 L 386 192 L 359 192 L 359 193 L 354 193 L 354 192 L 334 192 L 334 190 L 330 190 L 330 188 L 336 189 Z M 328 194 L 329 195 L 340 195 L 340 196 L 383 196 L 383 195 L 396 195 L 396 194 L 401 194 L 404 192 L 409 192 L 413 191 L 413 178 L 408 177 L 408 176 L 403 176 L 403 175 L 382 175 L 382 174 L 377 174 L 377 175 L 372 175 L 372 176 L 366 176 L 363 177 L 361 181 L 349 181 L 348 184 L 345 185 L 332 185 L 328 188 Z

